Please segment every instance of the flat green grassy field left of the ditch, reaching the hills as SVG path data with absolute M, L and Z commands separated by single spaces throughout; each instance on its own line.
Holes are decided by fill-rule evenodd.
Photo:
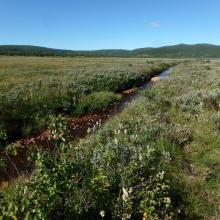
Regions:
M 2 56 L 0 130 L 13 139 L 44 128 L 50 114 L 102 111 L 120 100 L 116 93 L 141 85 L 170 64 L 169 60 Z

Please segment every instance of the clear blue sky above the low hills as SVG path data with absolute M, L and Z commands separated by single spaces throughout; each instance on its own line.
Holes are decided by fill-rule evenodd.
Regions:
M 0 0 L 0 44 L 73 50 L 220 45 L 220 0 Z

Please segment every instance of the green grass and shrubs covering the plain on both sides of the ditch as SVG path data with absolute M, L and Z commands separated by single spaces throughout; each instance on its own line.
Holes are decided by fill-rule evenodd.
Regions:
M 178 62 L 169 78 L 142 91 L 125 111 L 104 124 L 97 122 L 85 138 L 68 141 L 65 115 L 106 108 L 120 99 L 118 93 L 176 64 L 172 60 L 85 59 L 2 58 L 2 99 L 14 91 L 11 109 L 16 106 L 26 114 L 21 121 L 27 118 L 18 127 L 25 130 L 28 122 L 32 127 L 42 119 L 54 148 L 34 148 L 29 155 L 32 172 L 2 187 L 0 216 L 218 219 L 220 62 Z M 17 74 L 21 77 L 15 81 Z M 69 83 L 74 84 L 70 90 Z M 69 101 L 73 94 L 77 102 Z M 13 111 L 5 109 L 12 119 Z M 7 128 L 15 126 L 10 122 L 12 127 L 7 127 L 5 121 L 1 119 L 1 143 L 12 132 Z

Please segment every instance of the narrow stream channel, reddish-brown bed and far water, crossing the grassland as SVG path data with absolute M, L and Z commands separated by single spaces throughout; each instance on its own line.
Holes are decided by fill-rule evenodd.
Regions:
M 173 72 L 173 68 L 170 68 L 166 71 L 163 71 L 156 77 L 159 77 L 160 80 L 164 80 L 172 72 Z M 153 84 L 154 82 L 148 81 L 139 88 L 124 91 L 122 93 L 123 96 L 122 101 L 118 105 L 104 112 L 89 114 L 79 118 L 69 118 L 68 122 L 69 122 L 70 138 L 68 140 L 74 141 L 77 139 L 81 139 L 87 135 L 88 129 L 93 128 L 97 122 L 104 123 L 107 120 L 109 120 L 109 118 L 120 114 L 126 109 L 129 103 L 131 103 L 140 96 L 141 91 L 149 89 Z M 5 170 L 0 173 L 1 180 L 3 180 L 0 184 L 2 187 L 4 187 L 4 185 L 7 186 L 8 181 L 13 180 L 17 176 L 20 176 L 20 173 L 26 170 L 28 151 L 32 149 L 33 146 L 42 146 L 46 149 L 53 148 L 53 146 L 51 146 L 52 145 L 51 141 L 48 140 L 50 135 L 51 135 L 50 131 L 46 130 L 40 134 L 34 135 L 31 138 L 22 139 L 18 142 L 20 144 L 20 148 L 17 154 L 15 156 L 8 157 L 10 161 L 10 166 L 7 166 Z

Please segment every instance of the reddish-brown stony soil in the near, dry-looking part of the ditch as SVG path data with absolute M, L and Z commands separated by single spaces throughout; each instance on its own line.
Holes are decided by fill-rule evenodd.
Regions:
M 69 119 L 69 135 L 68 140 L 77 140 L 87 135 L 88 128 L 92 128 L 97 122 L 105 122 L 113 110 L 97 114 L 90 114 L 79 118 Z M 43 147 L 49 150 L 54 149 L 54 140 L 48 140 L 51 137 L 50 130 L 43 131 L 40 134 L 33 135 L 31 138 L 26 138 L 17 141 L 20 148 L 16 156 L 6 155 L 8 166 L 4 171 L 0 172 L 0 186 L 5 188 L 7 182 L 18 177 L 22 172 L 27 170 L 27 156 L 29 150 Z M 28 170 L 27 170 L 28 172 Z

